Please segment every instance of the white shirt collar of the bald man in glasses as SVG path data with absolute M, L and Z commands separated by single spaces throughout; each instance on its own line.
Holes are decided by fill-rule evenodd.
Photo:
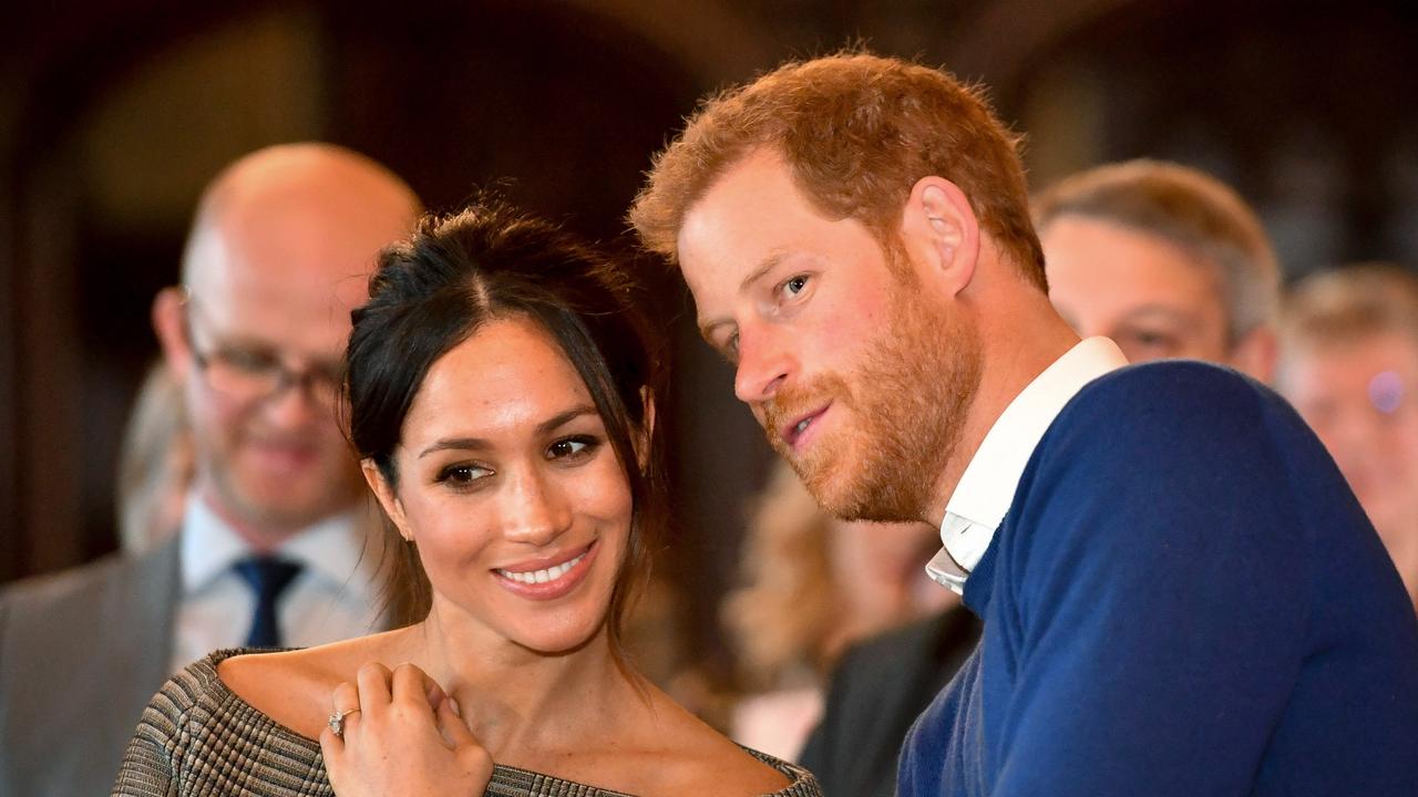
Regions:
M 372 574 L 379 564 L 377 552 L 364 550 L 367 525 L 360 519 L 366 512 L 356 505 L 325 518 L 286 537 L 272 553 L 301 563 L 313 577 L 364 596 L 373 580 L 354 574 L 362 569 Z M 196 491 L 187 494 L 180 553 L 183 594 L 201 590 L 251 554 L 251 546 Z

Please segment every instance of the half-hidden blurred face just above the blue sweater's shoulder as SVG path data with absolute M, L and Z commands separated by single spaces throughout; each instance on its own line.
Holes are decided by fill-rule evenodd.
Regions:
M 1215 269 L 1127 227 L 1062 216 L 1039 233 L 1049 301 L 1083 338 L 1112 338 L 1130 362 L 1227 363 L 1225 301 Z

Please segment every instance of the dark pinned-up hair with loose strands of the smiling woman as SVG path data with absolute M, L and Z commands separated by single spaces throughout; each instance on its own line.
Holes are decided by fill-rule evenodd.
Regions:
M 664 352 L 652 345 L 664 336 L 652 335 L 648 302 L 627 267 L 484 199 L 461 213 L 420 220 L 408 241 L 380 254 L 369 292 L 369 303 L 352 313 L 345 410 L 354 450 L 390 486 L 398 485 L 394 450 L 424 376 L 484 325 L 532 321 L 576 367 L 632 499 L 627 559 L 608 615 L 618 652 L 625 610 L 665 526 L 662 424 L 647 424 L 651 403 L 664 394 Z M 390 579 L 396 620 L 421 620 L 431 601 L 428 577 L 413 546 L 398 540 L 391 523 L 386 530 L 401 550 Z

